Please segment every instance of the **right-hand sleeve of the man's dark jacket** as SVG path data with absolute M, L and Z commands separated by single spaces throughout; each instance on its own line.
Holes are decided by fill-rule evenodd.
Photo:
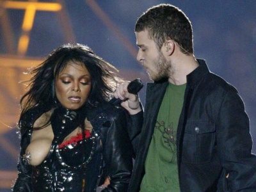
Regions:
M 256 156 L 251 154 L 249 118 L 239 94 L 227 92 L 220 108 L 218 151 L 227 191 L 256 191 Z

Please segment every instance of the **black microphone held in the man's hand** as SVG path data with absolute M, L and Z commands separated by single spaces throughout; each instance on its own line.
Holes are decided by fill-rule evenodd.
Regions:
M 134 79 L 127 86 L 128 92 L 132 93 L 134 95 L 137 95 L 138 92 L 140 92 L 141 88 L 143 88 L 143 83 L 142 83 L 141 79 L 139 79 L 139 78 Z M 109 103 L 114 104 L 114 105 L 118 105 L 118 104 L 121 104 L 122 102 L 124 102 L 125 100 L 127 100 L 127 99 L 121 100 L 121 99 L 116 99 L 114 97 L 113 99 L 109 100 Z

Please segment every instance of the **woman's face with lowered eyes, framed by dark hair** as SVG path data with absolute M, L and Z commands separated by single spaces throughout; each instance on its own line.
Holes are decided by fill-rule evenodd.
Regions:
M 68 61 L 55 80 L 56 97 L 67 109 L 79 109 L 91 90 L 90 74 L 84 65 Z

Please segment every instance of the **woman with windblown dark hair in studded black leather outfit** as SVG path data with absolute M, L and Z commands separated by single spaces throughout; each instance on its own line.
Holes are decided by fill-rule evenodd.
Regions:
M 132 147 L 124 109 L 108 103 L 120 79 L 81 44 L 54 50 L 21 98 L 19 175 L 13 191 L 126 191 Z

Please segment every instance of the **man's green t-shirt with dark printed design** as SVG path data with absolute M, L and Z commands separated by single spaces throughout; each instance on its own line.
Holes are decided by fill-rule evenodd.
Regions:
M 180 191 L 177 166 L 177 127 L 186 84 L 169 83 L 157 115 L 145 162 L 141 192 Z

